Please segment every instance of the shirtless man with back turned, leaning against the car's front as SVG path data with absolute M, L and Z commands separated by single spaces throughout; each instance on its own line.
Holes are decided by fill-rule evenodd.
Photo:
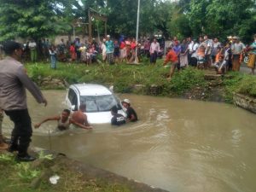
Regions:
M 88 129 L 91 129 L 92 127 L 88 123 L 87 116 L 86 116 L 85 112 L 86 112 L 86 105 L 81 104 L 79 106 L 79 111 L 76 111 L 72 114 L 71 120 L 88 127 Z

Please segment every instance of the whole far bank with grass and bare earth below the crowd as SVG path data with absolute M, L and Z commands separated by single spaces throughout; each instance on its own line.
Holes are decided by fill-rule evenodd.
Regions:
M 49 64 L 26 64 L 27 73 L 42 89 L 67 89 L 69 84 L 96 83 L 113 85 L 114 92 L 149 96 L 167 96 L 212 102 L 234 103 L 234 94 L 256 97 L 256 77 L 230 72 L 224 76 L 213 70 L 188 67 L 167 80 L 170 67 L 156 65 L 86 66 L 77 63 L 58 63 L 56 70 Z

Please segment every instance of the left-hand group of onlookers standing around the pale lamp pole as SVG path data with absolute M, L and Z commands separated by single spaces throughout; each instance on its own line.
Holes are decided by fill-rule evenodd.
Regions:
M 101 55 L 101 56 L 99 56 Z M 156 38 L 150 41 L 149 38 L 142 38 L 136 41 L 135 38 L 111 38 L 107 35 L 102 41 L 97 42 L 95 38 L 81 41 L 75 38 L 73 41 L 64 41 L 53 44 L 49 39 L 39 39 L 37 42 L 30 39 L 23 44 L 23 61 L 50 61 L 50 67 L 57 68 L 57 61 L 68 61 L 74 63 L 91 64 L 103 62 L 113 63 L 134 63 L 142 61 L 142 55 L 150 58 L 150 63 L 155 63 L 158 57 L 164 55 L 164 44 L 159 44 Z

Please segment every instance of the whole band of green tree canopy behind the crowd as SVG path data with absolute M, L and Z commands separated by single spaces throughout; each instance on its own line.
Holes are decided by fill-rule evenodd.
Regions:
M 137 0 L 0 0 L 0 41 L 16 37 L 42 38 L 72 32 L 73 20 L 88 23 L 90 8 L 108 15 L 108 33 L 134 37 Z M 198 37 L 207 33 L 246 41 L 256 32 L 255 0 L 141 0 L 140 36 Z M 104 32 L 101 21 L 99 31 Z M 80 28 L 84 26 L 79 26 Z M 85 34 L 86 30 L 80 30 Z

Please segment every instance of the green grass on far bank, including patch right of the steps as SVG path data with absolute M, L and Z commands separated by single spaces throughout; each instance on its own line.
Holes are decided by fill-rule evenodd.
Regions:
M 158 86 L 156 95 L 160 96 L 183 96 L 185 92 L 193 89 L 207 90 L 208 83 L 204 79 L 207 71 L 196 70 L 193 67 L 186 68 L 180 73 L 175 73 L 171 81 L 166 80 L 170 67 L 162 67 L 162 61 L 158 60 L 156 65 L 149 65 L 144 62 L 141 65 L 102 65 L 92 64 L 86 66 L 76 63 L 58 63 L 56 70 L 49 68 L 48 63 L 26 64 L 27 73 L 35 81 L 39 82 L 46 77 L 55 79 L 65 79 L 67 83 L 96 83 L 112 84 L 115 92 L 137 93 L 133 89 L 135 84 L 143 84 L 143 89 L 139 93 L 152 94 L 150 87 L 152 84 Z M 228 73 L 229 79 L 224 78 L 221 84 L 224 87 L 226 102 L 232 102 L 233 92 L 240 92 L 248 96 L 256 96 L 256 77 L 241 74 Z M 47 89 L 55 89 L 48 87 Z M 205 98 L 207 100 L 207 97 Z

